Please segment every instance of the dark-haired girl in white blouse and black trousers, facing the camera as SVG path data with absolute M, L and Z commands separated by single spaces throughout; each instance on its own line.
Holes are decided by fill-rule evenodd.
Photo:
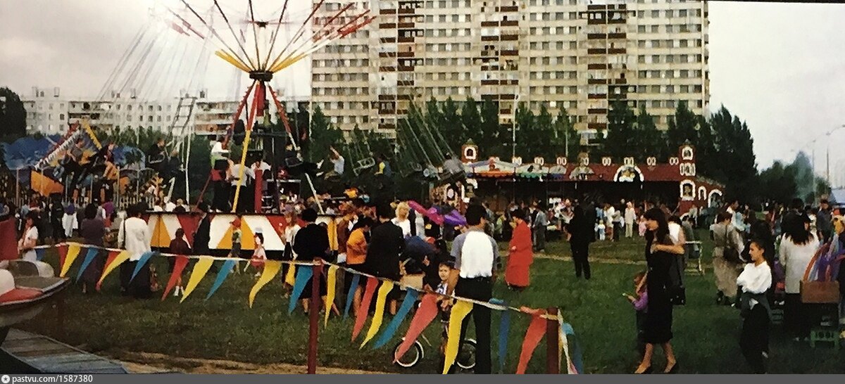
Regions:
M 771 308 L 766 291 L 771 287 L 771 268 L 763 256 L 765 247 L 758 241 L 751 241 L 749 256 L 751 262 L 745 264 L 739 273 L 737 285 L 742 287 L 742 334 L 739 347 L 745 360 L 755 373 L 766 373 L 766 360 L 769 357 L 769 325 Z

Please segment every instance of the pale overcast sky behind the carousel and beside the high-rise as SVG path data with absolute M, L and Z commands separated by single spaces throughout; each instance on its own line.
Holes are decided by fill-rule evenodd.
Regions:
M 150 20 L 152 3 L 0 0 L 0 85 L 22 95 L 30 95 L 32 86 L 58 86 L 64 95 L 97 95 L 136 32 Z M 190 3 L 207 8 L 212 2 Z M 245 1 L 223 3 L 230 19 L 243 19 L 237 13 L 243 12 L 239 4 Z M 270 19 L 281 3 L 256 2 L 264 6 L 256 13 Z M 308 3 L 291 2 L 295 19 L 304 19 Z M 810 142 L 817 139 L 816 170 L 823 175 L 826 143 L 839 143 L 837 149 L 845 143 L 845 128 L 825 136 L 845 124 L 842 20 L 845 4 L 710 3 L 711 107 L 715 111 L 726 105 L 748 122 L 760 167 L 792 160 L 799 149 L 811 154 Z M 237 71 L 212 57 L 207 73 L 204 83 L 211 95 L 237 95 Z M 309 77 L 303 63 L 277 75 L 275 84 L 288 94 L 308 95 Z M 831 153 L 831 171 L 836 171 L 835 183 L 845 181 L 841 150 Z

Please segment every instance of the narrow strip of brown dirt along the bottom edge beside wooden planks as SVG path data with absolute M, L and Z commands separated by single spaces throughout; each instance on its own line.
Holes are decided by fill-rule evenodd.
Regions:
M 308 368 L 292 364 L 251 364 L 231 360 L 191 359 L 166 354 L 125 352 L 119 354 L 128 370 L 133 373 L 183 372 L 197 374 L 305 374 Z M 317 367 L 320 375 L 363 375 L 384 374 L 369 370 Z

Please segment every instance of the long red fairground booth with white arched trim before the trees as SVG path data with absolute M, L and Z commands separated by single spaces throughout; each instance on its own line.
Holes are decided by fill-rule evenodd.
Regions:
M 553 161 L 542 157 L 530 162 L 521 157 L 510 162 L 479 160 L 479 149 L 472 143 L 462 152 L 467 180 L 458 193 L 480 197 L 494 209 L 504 208 L 511 201 L 548 202 L 555 197 L 588 196 L 608 203 L 651 200 L 685 213 L 693 205 L 706 208 L 722 201 L 723 187 L 697 174 L 695 148 L 689 144 L 682 145 L 668 162 L 658 163 L 650 156 L 640 164 L 634 157 L 619 162 L 610 157 L 594 159 L 586 153 L 579 154 L 574 163 L 563 156 Z

